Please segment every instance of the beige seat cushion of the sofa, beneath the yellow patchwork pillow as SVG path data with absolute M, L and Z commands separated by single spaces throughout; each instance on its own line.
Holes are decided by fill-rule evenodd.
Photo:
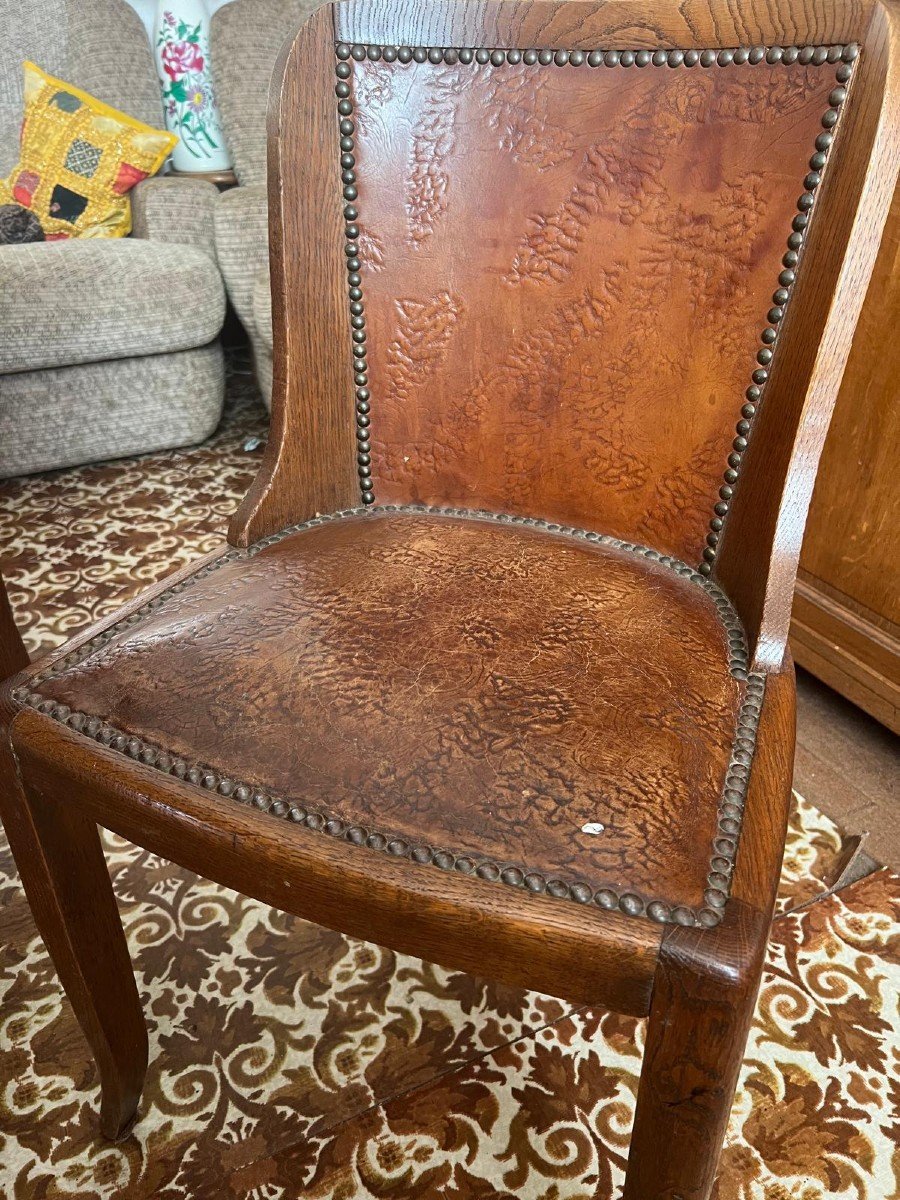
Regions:
M 89 239 L 0 248 L 6 372 L 193 349 L 223 319 L 218 269 L 190 246 Z

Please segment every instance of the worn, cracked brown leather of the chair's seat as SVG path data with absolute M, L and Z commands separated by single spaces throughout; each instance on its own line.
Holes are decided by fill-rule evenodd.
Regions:
M 659 563 L 368 514 L 238 554 L 40 691 L 346 822 L 694 906 L 740 688 Z

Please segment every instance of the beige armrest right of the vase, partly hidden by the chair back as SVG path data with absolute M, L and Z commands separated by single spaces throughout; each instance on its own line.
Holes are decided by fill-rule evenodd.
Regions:
M 269 258 L 269 197 L 262 184 L 224 192 L 216 204 L 216 257 L 238 316 L 250 332 L 253 288 Z

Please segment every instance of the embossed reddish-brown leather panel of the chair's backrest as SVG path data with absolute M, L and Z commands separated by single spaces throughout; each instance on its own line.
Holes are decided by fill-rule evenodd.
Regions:
M 697 563 L 834 79 L 354 64 L 376 502 Z

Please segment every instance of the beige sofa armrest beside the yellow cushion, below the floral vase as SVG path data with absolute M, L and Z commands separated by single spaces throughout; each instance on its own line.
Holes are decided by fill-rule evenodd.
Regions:
M 215 262 L 217 199 L 205 179 L 145 179 L 131 193 L 133 236 L 196 246 Z

